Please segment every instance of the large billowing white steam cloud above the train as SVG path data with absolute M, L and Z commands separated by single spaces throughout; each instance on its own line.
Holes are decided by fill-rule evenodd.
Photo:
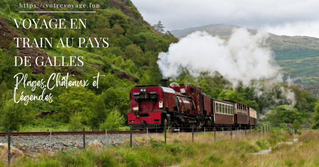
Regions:
M 159 53 L 157 63 L 165 78 L 175 78 L 187 68 L 194 77 L 199 72 L 219 72 L 234 87 L 240 82 L 247 87 L 259 79 L 282 82 L 267 38 L 268 33 L 252 35 L 246 28 L 234 29 L 228 41 L 197 31 L 171 44 L 167 53 Z

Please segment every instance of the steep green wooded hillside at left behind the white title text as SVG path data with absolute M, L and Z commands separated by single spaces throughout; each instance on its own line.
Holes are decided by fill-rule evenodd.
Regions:
M 38 130 L 38 129 L 81 129 L 100 128 L 108 115 L 120 112 L 122 117 L 127 117 L 125 112 L 130 108 L 130 89 L 138 84 L 159 84 L 162 78 L 156 61 L 159 52 L 167 51 L 169 44 L 178 42 L 173 35 L 162 34 L 154 30 L 140 15 L 137 8 L 130 0 L 92 0 L 92 1 L 0 1 L 0 131 L 11 130 Z M 73 9 L 71 11 L 96 11 L 91 13 L 21 13 L 19 11 L 70 11 L 67 8 L 19 8 L 19 4 L 74 4 L 89 5 L 99 4 L 99 8 Z M 31 28 L 17 29 L 14 19 L 40 19 L 40 23 L 50 25 L 51 19 L 65 19 L 65 29 Z M 86 28 L 70 29 L 70 19 L 86 19 Z M 55 22 L 51 23 L 54 27 Z M 28 26 L 28 24 L 27 24 Z M 26 26 L 26 27 L 27 27 Z M 23 48 L 22 42 L 16 48 L 14 38 L 29 38 L 32 45 L 33 39 L 53 38 L 52 46 L 47 48 Z M 94 38 L 108 38 L 107 48 L 97 47 Z M 71 48 L 59 47 L 59 39 L 84 38 L 91 39 L 93 47 L 79 48 L 79 40 L 74 40 Z M 83 44 L 82 44 L 83 45 Z M 85 43 L 86 45 L 86 43 Z M 14 66 L 15 58 L 31 57 L 31 66 Z M 70 57 L 75 57 L 74 63 L 83 62 L 82 66 L 40 66 L 35 64 L 36 57 L 44 63 L 48 58 L 56 64 L 64 60 L 70 63 Z M 42 58 L 43 57 L 43 58 Z M 54 58 L 55 57 L 55 58 Z M 65 64 L 67 64 L 65 63 Z M 26 81 L 49 81 L 53 73 L 60 73 L 61 79 L 69 75 L 69 81 L 84 81 L 90 83 L 85 87 L 56 86 L 52 90 L 46 89 L 44 95 L 51 95 L 52 102 L 47 100 L 31 100 L 26 97 L 40 96 L 44 91 L 41 86 L 25 86 L 19 84 L 14 93 L 14 75 L 28 74 Z M 93 86 L 93 77 L 98 73 L 101 76 L 98 88 Z M 60 79 L 60 80 L 61 80 Z M 82 82 L 83 83 L 83 82 Z M 53 87 L 55 81 L 50 82 Z M 23 92 L 23 94 L 22 94 Z M 23 95 L 22 102 L 15 103 Z M 25 105 L 26 104 L 26 105 Z M 41 111 L 57 111 L 51 114 L 40 114 Z M 116 115 L 116 114 L 115 114 Z M 42 118 L 42 119 L 38 119 Z M 111 118 L 111 117 L 110 117 Z M 12 123 L 14 122 L 14 123 Z M 122 125 L 123 122 L 120 122 Z M 104 125 L 104 124 L 103 124 Z M 125 125 L 125 124 L 123 124 Z M 103 128 L 111 128 L 104 127 Z

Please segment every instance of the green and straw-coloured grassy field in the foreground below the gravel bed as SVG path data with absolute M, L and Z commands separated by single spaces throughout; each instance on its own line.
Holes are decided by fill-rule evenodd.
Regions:
M 268 149 L 278 142 L 293 141 L 293 145 L 275 147 L 268 154 L 253 155 L 252 153 Z M 22 157 L 11 162 L 11 166 L 319 166 L 319 133 L 316 130 L 302 130 L 301 135 L 293 135 L 287 131 L 269 131 L 258 134 L 257 131 L 245 133 L 168 133 L 167 142 L 164 135 L 150 135 L 133 138 L 133 147 L 129 139 L 122 146 L 108 146 L 101 151 L 94 149 L 69 149 L 67 152 L 57 152 L 55 156 Z M 0 166 L 7 166 L 5 161 Z

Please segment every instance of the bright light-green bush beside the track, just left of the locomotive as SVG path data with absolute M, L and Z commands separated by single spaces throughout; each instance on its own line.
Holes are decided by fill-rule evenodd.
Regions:
M 103 123 L 100 123 L 100 129 L 116 130 L 125 123 L 124 117 L 121 112 L 115 107 L 113 111 L 108 114 L 108 117 Z

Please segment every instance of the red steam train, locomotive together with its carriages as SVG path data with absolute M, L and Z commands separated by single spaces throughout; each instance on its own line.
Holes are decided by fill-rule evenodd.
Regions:
M 130 91 L 128 124 L 134 129 L 164 126 L 212 129 L 257 125 L 257 113 L 245 104 L 211 98 L 201 87 L 161 80 Z

